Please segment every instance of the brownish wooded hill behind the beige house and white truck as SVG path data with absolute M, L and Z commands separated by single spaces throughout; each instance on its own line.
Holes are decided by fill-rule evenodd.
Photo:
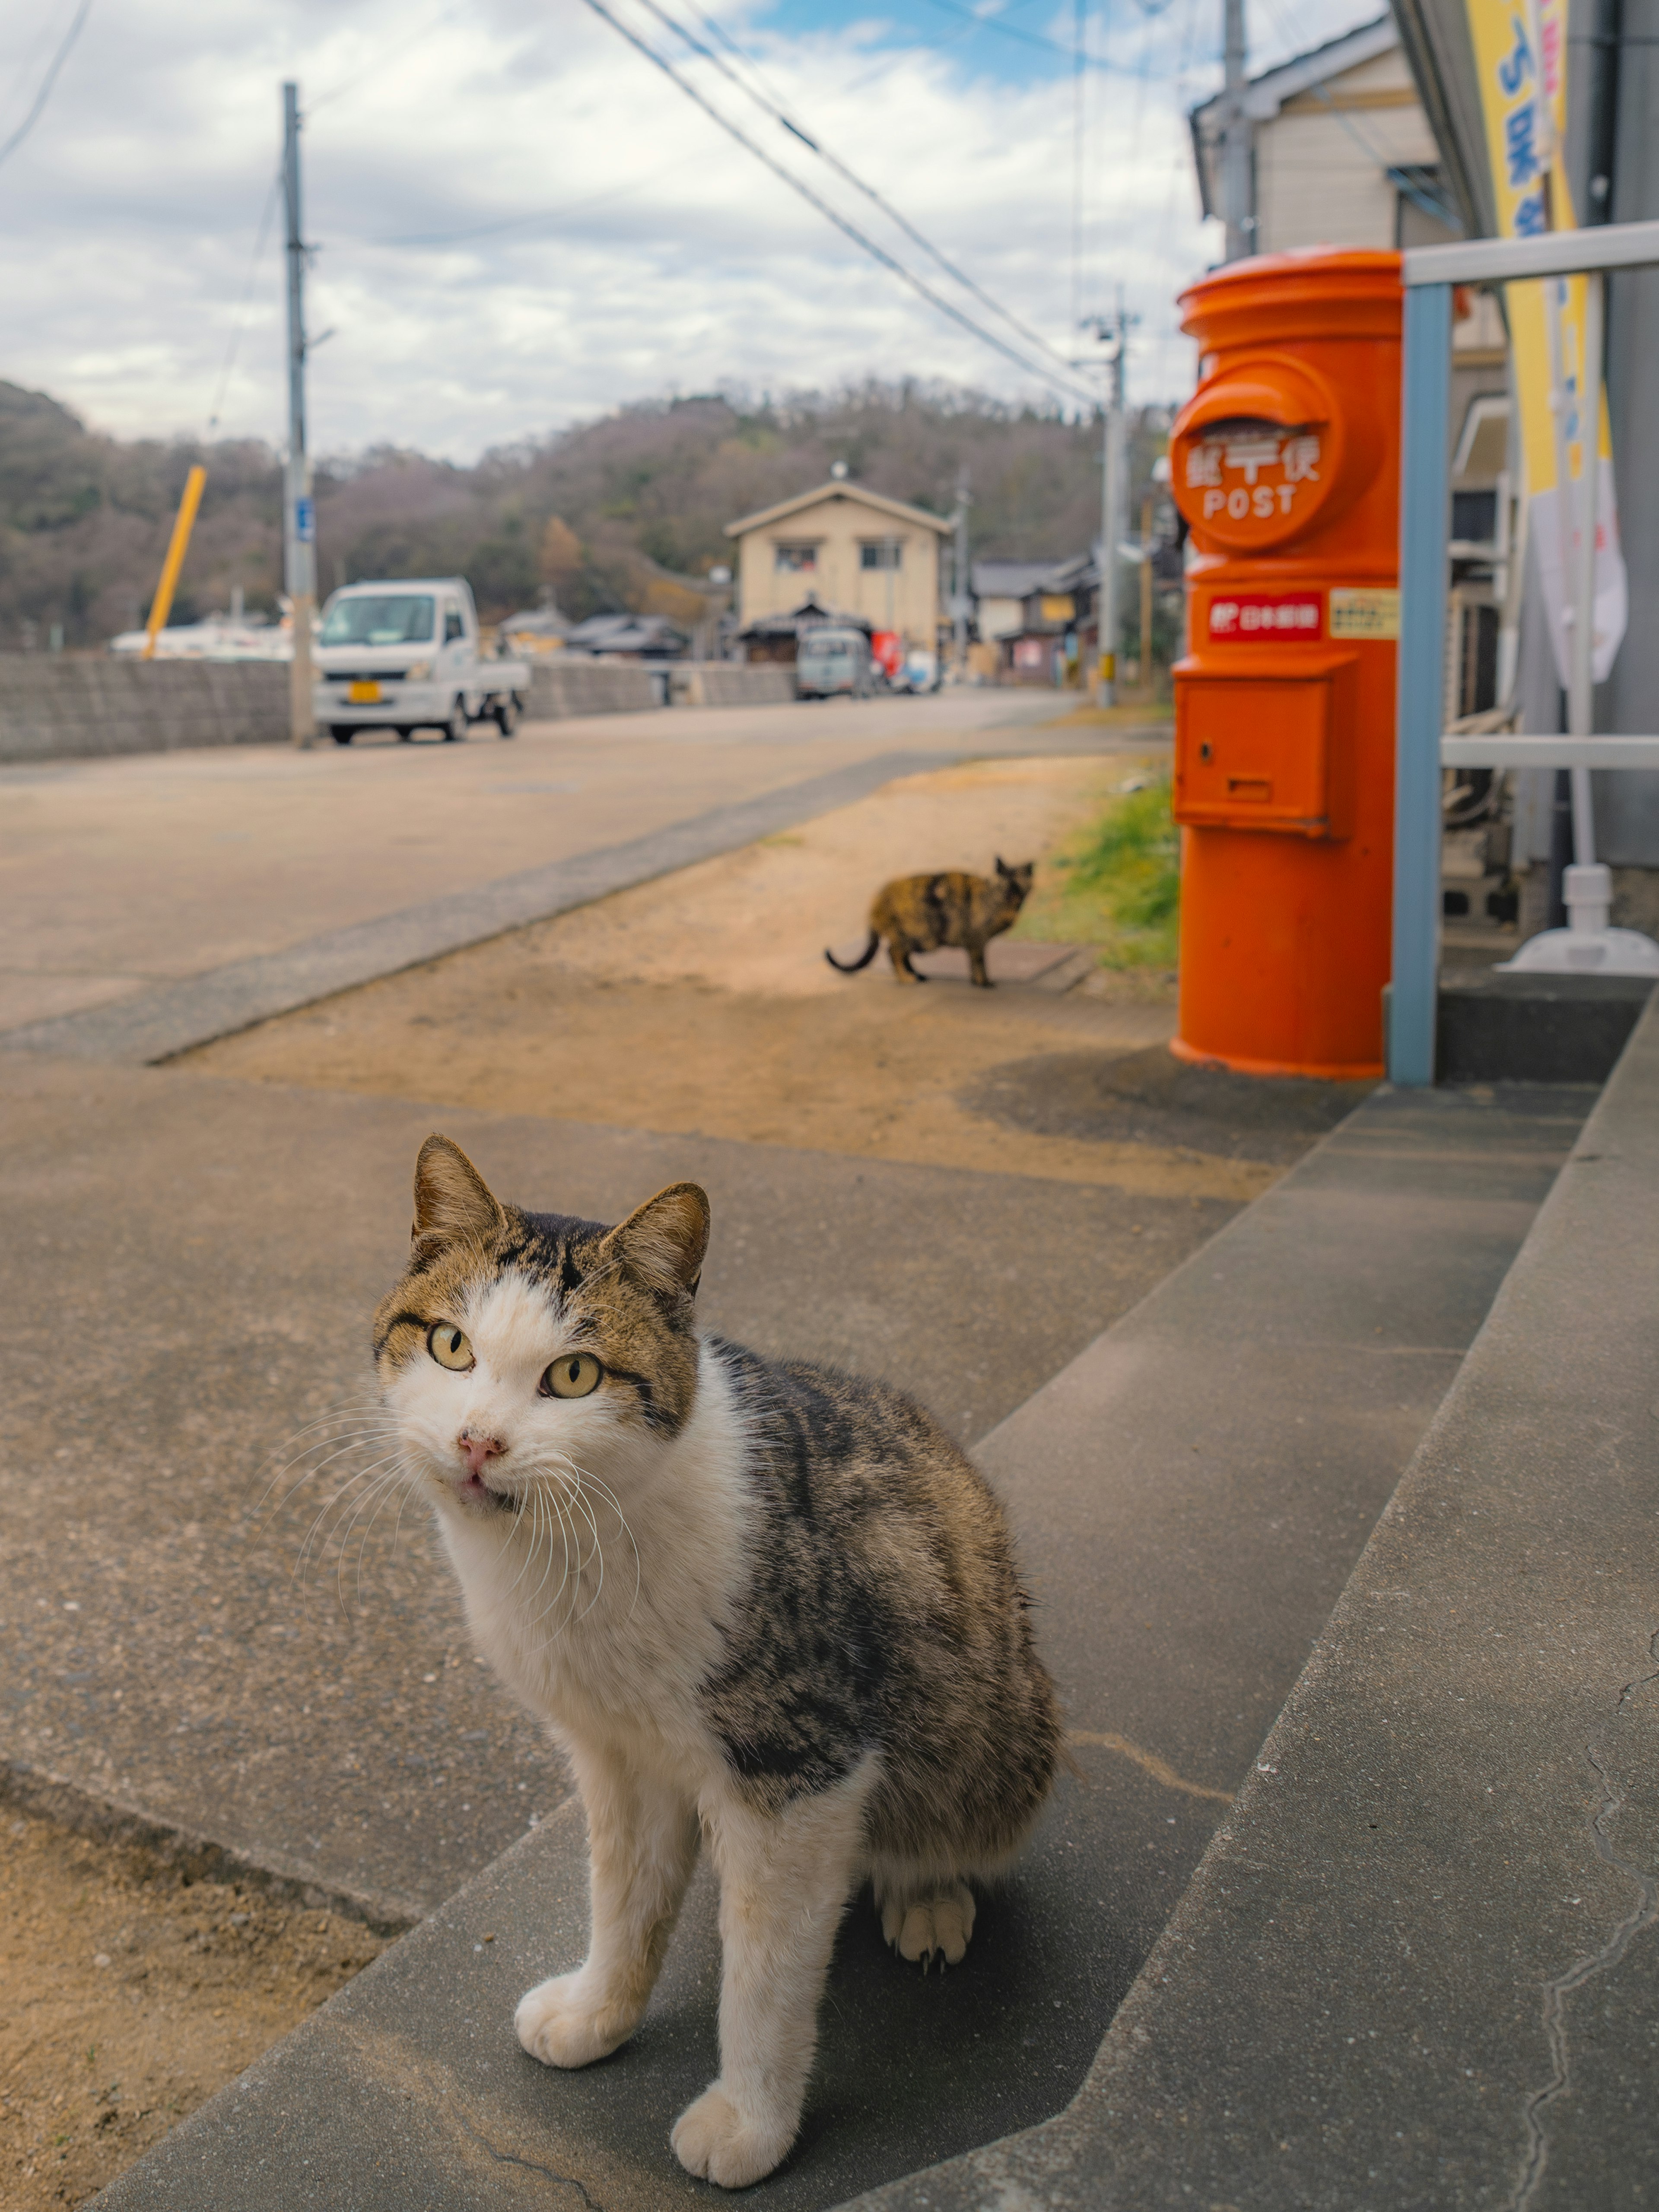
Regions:
M 1150 431 L 1152 425 L 1146 425 Z M 1150 460 L 1150 438 L 1135 440 Z M 115 440 L 40 392 L 0 383 L 0 650 L 93 646 L 148 608 L 192 460 L 208 467 L 175 622 L 270 608 L 281 580 L 276 453 L 239 440 Z M 728 396 L 624 407 L 460 469 L 380 449 L 316 471 L 319 584 L 361 575 L 471 577 L 487 615 L 690 615 L 677 584 L 730 560 L 726 522 L 852 478 L 933 513 L 971 489 L 975 557 L 1077 553 L 1099 531 L 1099 427 L 940 385 L 865 385 L 750 405 Z M 1139 471 L 1137 471 L 1139 473 Z

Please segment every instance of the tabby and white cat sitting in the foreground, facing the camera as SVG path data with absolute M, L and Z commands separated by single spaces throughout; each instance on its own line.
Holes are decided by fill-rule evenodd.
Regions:
M 978 1471 L 896 1389 L 699 1336 L 706 1245 L 695 1183 L 604 1228 L 427 1137 L 374 1343 L 478 1648 L 588 1816 L 588 1955 L 518 2037 L 549 2066 L 626 2042 L 706 1840 L 721 2073 L 672 2146 L 743 2188 L 794 2141 L 847 1898 L 869 1878 L 887 1940 L 956 1964 L 1060 1712 Z

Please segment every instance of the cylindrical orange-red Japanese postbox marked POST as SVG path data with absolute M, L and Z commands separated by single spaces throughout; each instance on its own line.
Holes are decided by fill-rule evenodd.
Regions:
M 1394 869 L 1400 257 L 1237 261 L 1181 294 L 1192 524 L 1175 668 L 1175 1051 L 1383 1073 Z

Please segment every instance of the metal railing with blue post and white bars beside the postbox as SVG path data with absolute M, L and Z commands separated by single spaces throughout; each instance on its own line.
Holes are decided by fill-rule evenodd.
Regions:
M 1400 675 L 1394 754 L 1394 989 L 1387 1035 L 1389 1082 L 1396 1084 L 1433 1082 L 1442 765 L 1571 768 L 1586 776 L 1590 768 L 1659 768 L 1659 737 L 1444 734 L 1451 288 L 1652 265 L 1659 265 L 1659 223 L 1604 223 L 1595 230 L 1551 230 L 1535 239 L 1467 239 L 1458 246 L 1418 246 L 1402 257 Z M 1595 383 L 1590 422 L 1599 411 L 1599 374 Z M 1584 650 L 1588 653 L 1588 628 Z

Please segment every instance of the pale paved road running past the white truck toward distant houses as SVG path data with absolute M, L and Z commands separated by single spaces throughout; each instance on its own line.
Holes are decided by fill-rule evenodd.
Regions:
M 650 832 L 872 754 L 1040 739 L 1051 692 L 684 708 L 518 741 L 259 745 L 0 770 L 0 1033 Z

